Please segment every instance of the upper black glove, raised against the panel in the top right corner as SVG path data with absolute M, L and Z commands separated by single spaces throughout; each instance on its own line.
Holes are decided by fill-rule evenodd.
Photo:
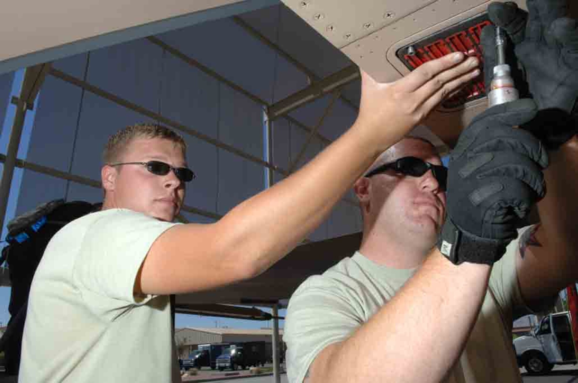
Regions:
M 513 2 L 495 2 L 488 16 L 506 30 L 527 84 L 513 73 L 516 86 L 535 100 L 539 118 L 524 125 L 549 149 L 556 149 L 578 133 L 578 29 L 568 15 L 567 0 L 527 0 L 528 12 Z M 491 81 L 495 64 L 494 28 L 484 28 L 484 76 Z M 543 112 L 543 110 L 549 110 Z M 562 121 L 564 123 L 562 123 Z

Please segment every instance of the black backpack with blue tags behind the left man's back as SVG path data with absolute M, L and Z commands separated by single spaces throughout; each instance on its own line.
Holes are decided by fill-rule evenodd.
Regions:
M 84 201 L 54 200 L 8 223 L 8 246 L 2 249 L 0 257 L 0 265 L 5 260 L 8 263 L 12 285 L 8 306 L 10 321 L 0 339 L 0 351 L 4 351 L 8 375 L 18 374 L 30 285 L 48 242 L 67 223 L 100 210 L 101 205 Z

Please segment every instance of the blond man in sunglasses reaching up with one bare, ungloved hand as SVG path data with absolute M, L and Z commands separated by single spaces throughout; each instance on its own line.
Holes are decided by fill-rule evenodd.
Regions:
M 169 294 L 265 271 L 327 217 L 379 153 L 476 77 L 476 67 L 455 53 L 390 84 L 362 73 L 353 126 L 213 224 L 172 223 L 194 178 L 180 137 L 160 126 L 117 133 L 101 171 L 102 211 L 58 232 L 36 271 L 20 381 L 180 382 Z

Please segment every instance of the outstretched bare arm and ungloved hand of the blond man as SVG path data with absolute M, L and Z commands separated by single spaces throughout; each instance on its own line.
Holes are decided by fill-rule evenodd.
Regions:
M 180 225 L 151 247 L 135 292 L 208 290 L 265 271 L 320 224 L 384 149 L 445 96 L 476 76 L 477 61 L 452 55 L 390 84 L 362 73 L 354 125 L 310 163 L 209 225 Z M 461 57 L 461 58 L 460 58 Z

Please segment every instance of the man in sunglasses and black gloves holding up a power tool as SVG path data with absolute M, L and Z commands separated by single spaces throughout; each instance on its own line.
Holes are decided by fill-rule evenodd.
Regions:
M 514 37 L 534 100 L 475 118 L 447 172 L 431 144 L 405 138 L 358 179 L 360 250 L 291 297 L 290 382 L 521 381 L 513 319 L 578 279 L 578 33 L 564 2 L 528 8 L 490 16 Z M 546 123 L 553 111 L 565 123 Z M 536 202 L 541 224 L 518 236 Z

